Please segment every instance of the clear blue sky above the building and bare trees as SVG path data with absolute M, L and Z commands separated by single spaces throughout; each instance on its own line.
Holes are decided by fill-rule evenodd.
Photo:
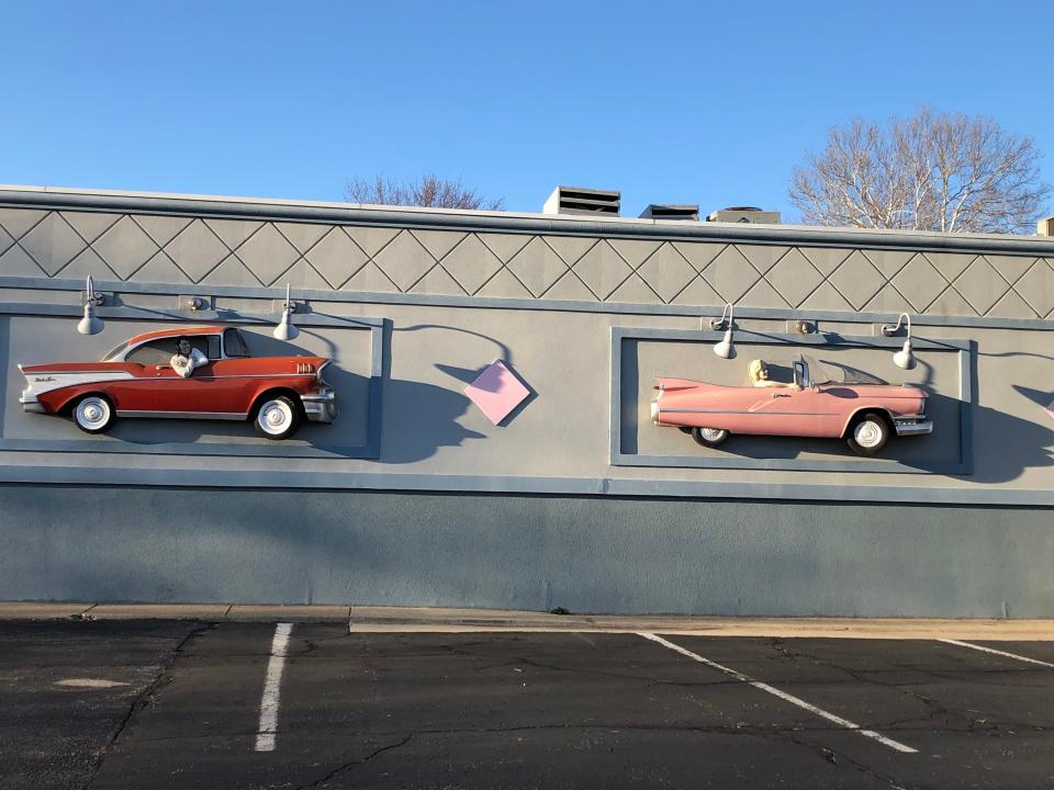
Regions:
M 1034 136 L 1054 182 L 1049 3 L 12 2 L 4 27 L 2 183 L 343 200 L 434 171 L 513 211 L 565 183 L 789 213 L 830 125 L 919 104 Z

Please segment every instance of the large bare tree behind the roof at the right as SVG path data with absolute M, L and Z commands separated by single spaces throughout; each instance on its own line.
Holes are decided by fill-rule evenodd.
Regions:
M 788 196 L 810 225 L 1033 232 L 1051 191 L 1041 156 L 989 117 L 921 108 L 885 126 L 854 119 L 829 129 Z

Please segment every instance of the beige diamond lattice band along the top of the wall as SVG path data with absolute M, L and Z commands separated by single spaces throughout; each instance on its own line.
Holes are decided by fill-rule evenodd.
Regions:
M 810 311 L 1054 318 L 1050 257 L 0 210 L 0 275 L 74 278 L 86 261 L 144 283 L 281 285 L 295 272 L 344 291 L 625 302 L 633 285 L 700 307 L 765 293 Z

